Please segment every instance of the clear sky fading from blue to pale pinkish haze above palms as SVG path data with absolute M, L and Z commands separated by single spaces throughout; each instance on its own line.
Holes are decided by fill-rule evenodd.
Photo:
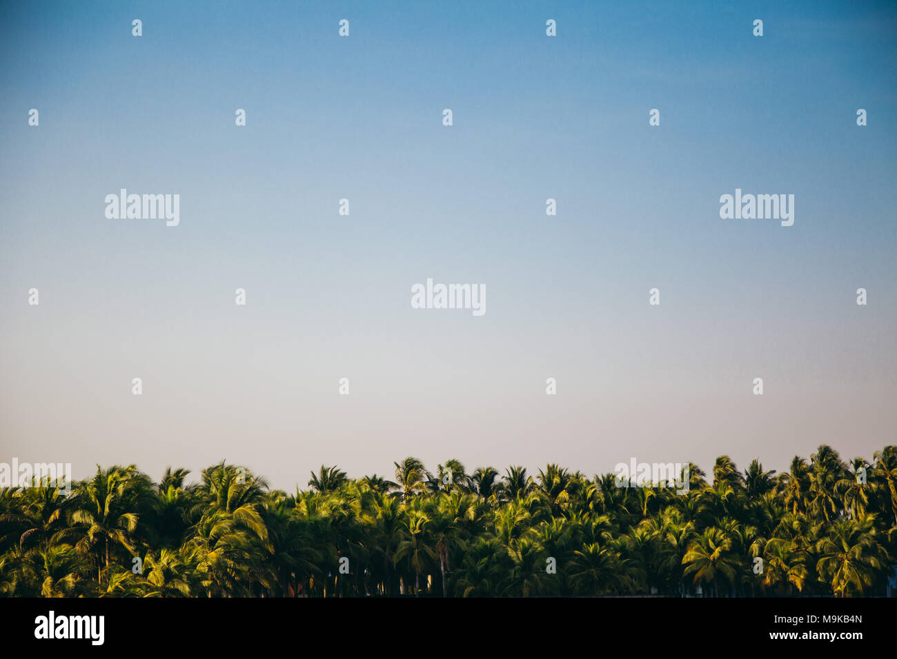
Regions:
M 885 3 L 4 4 L 0 462 L 290 490 L 406 455 L 871 458 L 895 82 Z M 121 188 L 179 194 L 179 226 L 107 219 Z M 736 188 L 794 225 L 720 219 Z M 428 277 L 486 313 L 411 308 Z

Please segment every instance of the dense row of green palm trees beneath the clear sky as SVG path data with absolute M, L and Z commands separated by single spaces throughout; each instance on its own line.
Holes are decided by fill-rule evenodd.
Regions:
M 215 464 L 158 483 L 129 466 L 0 490 L 0 594 L 25 597 L 360 595 L 871 596 L 897 593 L 897 447 L 832 447 L 784 473 L 727 455 L 687 491 L 621 487 L 558 464 L 394 481 L 311 473 L 272 490 Z

